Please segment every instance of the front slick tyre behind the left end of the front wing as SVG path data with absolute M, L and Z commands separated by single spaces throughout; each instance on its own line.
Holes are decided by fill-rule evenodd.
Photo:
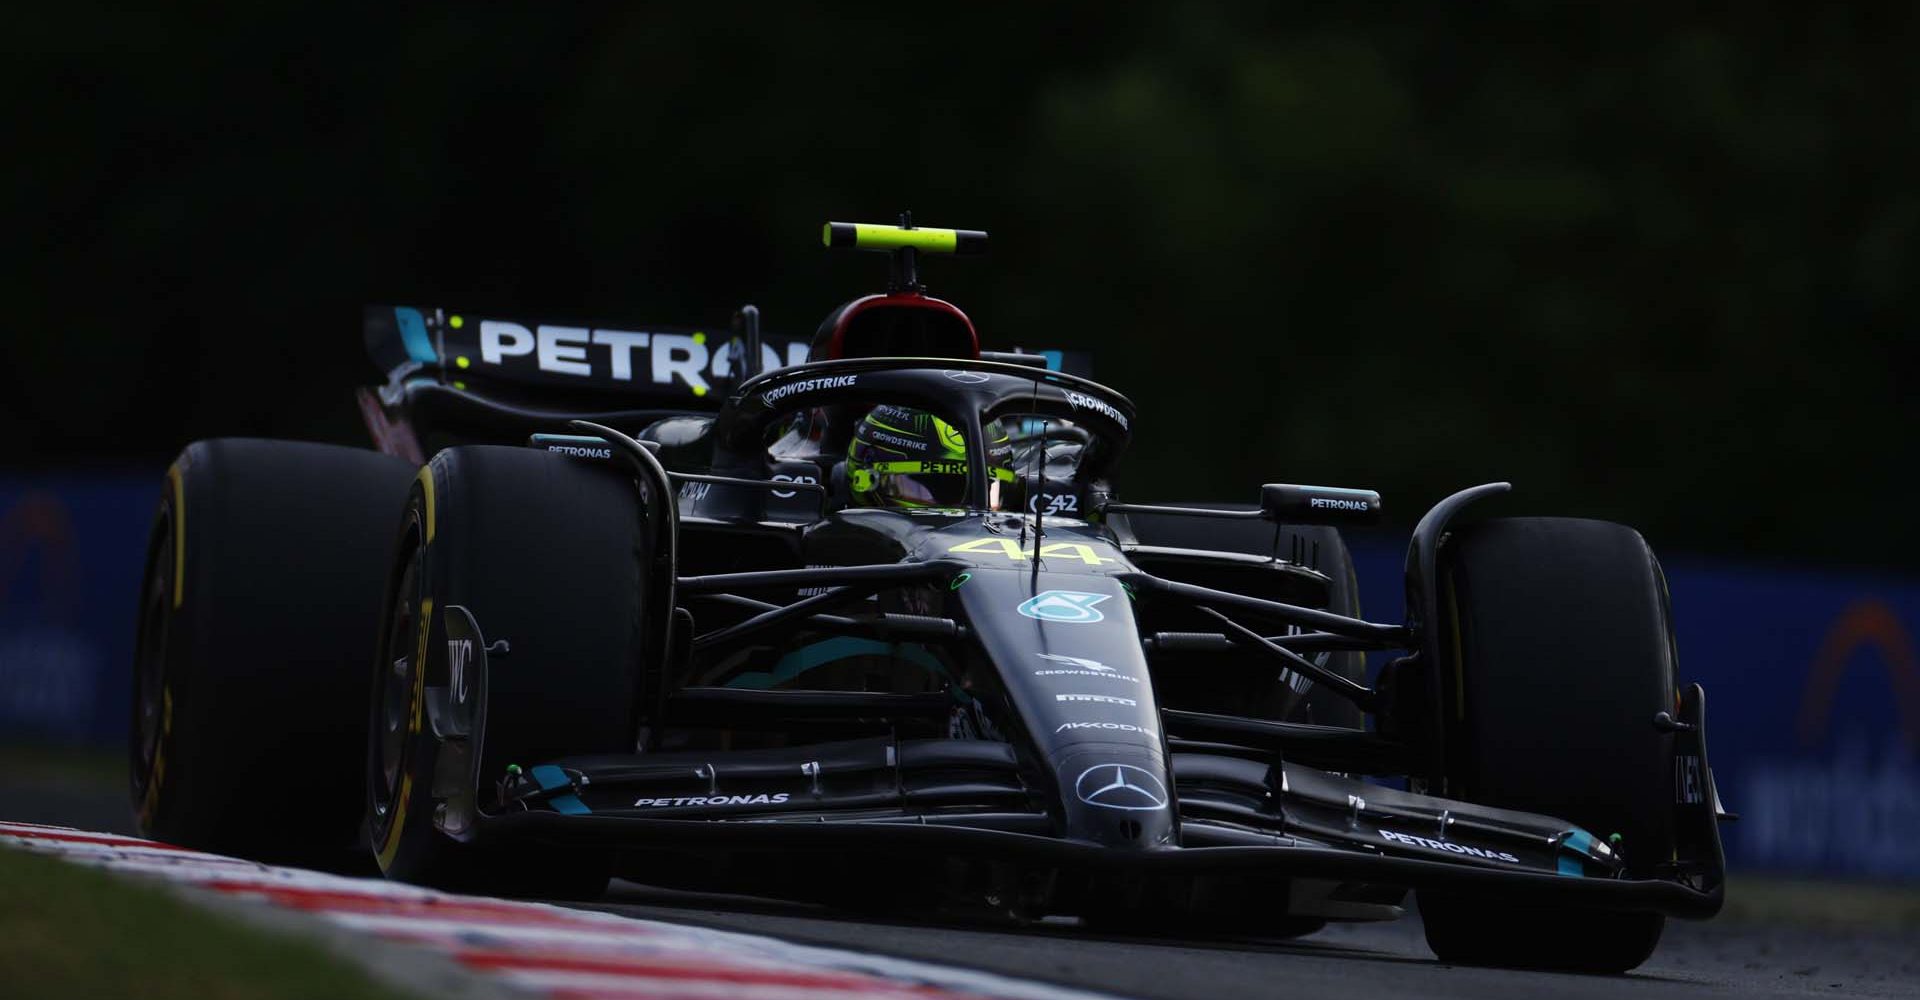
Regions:
M 616 468 L 522 447 L 451 447 L 420 470 L 371 658 L 367 821 L 380 871 L 499 894 L 586 898 L 607 887 L 607 852 L 474 843 L 445 827 L 445 806 L 467 785 L 480 810 L 495 812 L 509 766 L 634 750 L 649 562 L 639 491 Z M 430 712 L 451 699 L 453 608 L 495 647 L 474 726 L 478 781 L 459 766 L 440 768 L 436 781 L 436 762 L 453 752 Z M 463 678 L 461 689 L 474 683 Z

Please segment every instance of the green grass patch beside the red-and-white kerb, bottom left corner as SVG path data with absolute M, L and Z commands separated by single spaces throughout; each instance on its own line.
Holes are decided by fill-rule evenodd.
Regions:
M 394 1000 L 300 939 L 159 885 L 0 848 L 0 994 L 17 1000 Z

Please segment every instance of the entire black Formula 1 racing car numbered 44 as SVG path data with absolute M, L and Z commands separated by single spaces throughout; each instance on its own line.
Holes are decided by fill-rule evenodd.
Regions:
M 810 342 L 753 307 L 714 336 L 369 309 L 378 451 L 188 445 L 142 829 L 486 893 L 1164 933 L 1415 891 L 1442 960 L 1601 971 L 1720 908 L 1705 701 L 1636 532 L 1461 524 L 1507 486 L 1465 489 L 1413 530 L 1405 620 L 1363 620 L 1338 528 L 1377 493 L 1121 503 L 1133 403 L 924 294 L 985 234 L 826 242 L 893 276 Z M 1400 653 L 1371 683 L 1369 651 Z

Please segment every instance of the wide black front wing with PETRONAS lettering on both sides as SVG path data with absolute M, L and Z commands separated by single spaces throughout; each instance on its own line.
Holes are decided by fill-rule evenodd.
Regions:
M 468 835 L 689 852 L 924 852 L 1056 869 L 1304 877 L 1480 898 L 1709 917 L 1720 910 L 1724 816 L 1705 754 L 1705 695 L 1682 695 L 1674 758 L 1678 850 L 1634 864 L 1551 816 L 1417 795 L 1252 758 L 1173 752 L 1175 789 L 1035 789 L 1016 750 L 987 741 L 885 737 L 780 750 L 561 758 L 513 777 L 507 808 Z M 1102 791 L 1104 789 L 1104 791 Z M 1117 789 L 1117 791 L 1116 791 Z M 1064 839 L 1048 797 L 1108 795 L 1171 808 L 1177 845 Z M 1131 798 L 1129 798 L 1131 795 Z M 1626 873 L 1634 871 L 1632 877 Z

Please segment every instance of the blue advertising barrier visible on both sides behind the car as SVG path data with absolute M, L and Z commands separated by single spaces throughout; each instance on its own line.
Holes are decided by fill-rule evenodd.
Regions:
M 159 482 L 0 478 L 0 747 L 123 739 Z M 1354 543 L 1375 620 L 1402 614 L 1402 560 L 1398 539 Z M 1920 881 L 1920 580 L 1665 564 L 1680 676 L 1707 687 L 1715 777 L 1741 814 L 1730 864 Z

